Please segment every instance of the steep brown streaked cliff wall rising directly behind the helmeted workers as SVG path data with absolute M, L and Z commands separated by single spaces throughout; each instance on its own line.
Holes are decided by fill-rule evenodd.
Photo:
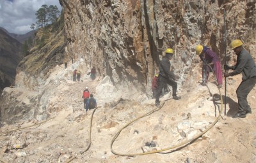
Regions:
M 195 46 L 211 46 L 224 62 L 226 11 L 227 49 L 242 39 L 255 57 L 255 1 L 89 1 L 60 0 L 64 8 L 67 50 L 84 58 L 115 84 L 128 83 L 150 92 L 159 60 L 173 48 L 171 61 L 180 87 L 195 84 Z M 232 57 L 228 57 L 230 60 Z M 186 81 L 186 82 L 185 82 Z

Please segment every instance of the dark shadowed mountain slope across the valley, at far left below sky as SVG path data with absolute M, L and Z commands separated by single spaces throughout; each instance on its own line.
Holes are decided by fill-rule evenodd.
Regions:
M 21 53 L 22 41 L 30 37 L 30 34 L 33 32 L 21 35 L 10 34 L 0 27 L 0 93 L 4 87 L 14 84 L 16 68 L 24 57 Z

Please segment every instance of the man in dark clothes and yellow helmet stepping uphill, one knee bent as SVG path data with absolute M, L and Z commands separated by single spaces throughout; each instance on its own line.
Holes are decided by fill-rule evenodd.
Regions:
M 170 67 L 171 67 L 170 60 L 172 59 L 172 57 L 173 57 L 172 48 L 167 48 L 165 51 L 165 56 L 163 57 L 159 65 L 159 76 L 158 76 L 159 79 L 158 79 L 158 88 L 157 88 L 157 94 L 156 94 L 157 107 L 160 106 L 159 97 L 166 83 L 172 86 L 173 99 L 175 100 L 180 99 L 180 97 L 178 97 L 176 94 L 177 86 L 178 86 L 177 82 L 175 81 L 176 76 L 170 71 Z

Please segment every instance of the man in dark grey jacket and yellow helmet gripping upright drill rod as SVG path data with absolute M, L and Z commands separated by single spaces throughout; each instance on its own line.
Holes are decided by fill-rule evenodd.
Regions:
M 224 69 L 232 69 L 231 73 L 224 73 L 225 77 L 234 76 L 242 73 L 242 81 L 236 90 L 238 99 L 238 111 L 233 118 L 244 118 L 246 114 L 252 113 L 250 105 L 247 101 L 247 96 L 256 84 L 256 66 L 252 55 L 243 48 L 243 42 L 240 39 L 235 39 L 231 42 L 231 49 L 237 55 L 236 65 L 224 65 Z

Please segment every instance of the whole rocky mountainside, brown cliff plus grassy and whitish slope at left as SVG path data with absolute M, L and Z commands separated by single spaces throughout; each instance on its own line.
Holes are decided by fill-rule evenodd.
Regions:
M 18 102 L 23 102 L 28 109 L 19 104 L 17 110 L 12 111 L 10 108 L 15 107 L 13 103 L 19 98 L 13 98 L 12 90 L 6 89 L 3 103 L 0 103 L 3 122 L 15 116 L 13 113 L 19 114 L 18 117 L 42 120 L 51 110 L 61 110 L 61 104 L 51 103 L 51 99 L 64 92 L 56 87 L 72 82 L 70 78 L 77 67 L 83 73 L 83 80 L 88 79 L 85 72 L 96 67 L 97 82 L 100 82 L 96 89 L 93 88 L 93 94 L 97 94 L 99 102 L 107 103 L 124 96 L 137 101 L 147 99 L 151 96 L 152 78 L 166 48 L 173 48 L 175 52 L 171 60 L 172 70 L 179 75 L 178 94 L 185 94 L 186 90 L 195 87 L 201 76 L 202 65 L 195 55 L 196 45 L 210 46 L 224 64 L 224 9 L 228 63 L 232 64 L 236 59 L 228 48 L 232 39 L 241 39 L 246 50 L 254 58 L 256 55 L 253 0 L 60 0 L 60 3 L 64 31 L 60 28 L 56 34 L 51 34 L 45 46 L 32 48 L 17 69 L 17 89 L 32 91 L 35 96 L 29 96 L 29 103 Z M 36 34 L 40 35 L 40 32 L 44 33 L 37 31 Z M 64 61 L 68 62 L 65 71 Z M 76 97 L 77 92 L 72 94 Z M 19 97 L 25 95 L 20 92 Z M 31 108 L 33 105 L 38 111 L 30 111 L 34 109 Z

